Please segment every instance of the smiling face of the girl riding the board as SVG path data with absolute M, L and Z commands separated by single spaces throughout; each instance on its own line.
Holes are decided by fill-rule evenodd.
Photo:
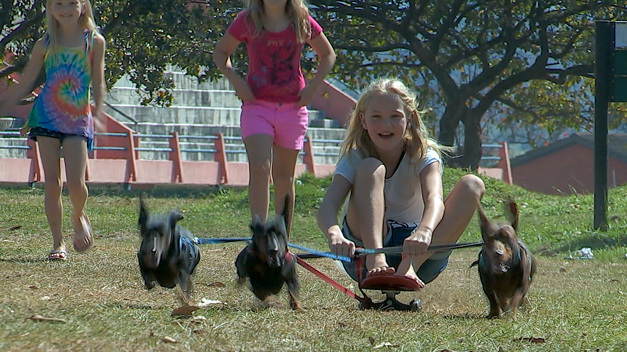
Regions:
M 390 93 L 372 95 L 359 118 L 377 153 L 403 150 L 408 116 L 398 96 Z

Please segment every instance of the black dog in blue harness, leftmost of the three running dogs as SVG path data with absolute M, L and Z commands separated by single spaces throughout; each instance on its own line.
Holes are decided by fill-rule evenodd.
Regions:
M 150 215 L 143 197 L 139 199 L 139 229 L 142 243 L 137 251 L 139 270 L 146 289 L 155 284 L 181 289 L 181 299 L 189 303 L 194 269 L 200 262 L 200 249 L 189 230 L 177 224 L 183 215 L 172 210 L 167 215 Z

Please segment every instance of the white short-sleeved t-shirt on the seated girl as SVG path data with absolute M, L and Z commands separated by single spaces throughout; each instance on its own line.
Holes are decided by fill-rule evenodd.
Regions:
M 440 162 L 440 174 L 442 173 L 442 160 L 433 149 L 427 150 L 426 155 L 416 163 L 410 164 L 410 159 L 409 153 L 405 153 L 394 175 L 385 180 L 383 194 L 386 202 L 386 220 L 419 223 L 424 212 L 420 172 L 427 165 Z M 362 152 L 350 150 L 337 163 L 334 175 L 340 175 L 353 184 L 355 172 L 361 160 L 364 160 Z

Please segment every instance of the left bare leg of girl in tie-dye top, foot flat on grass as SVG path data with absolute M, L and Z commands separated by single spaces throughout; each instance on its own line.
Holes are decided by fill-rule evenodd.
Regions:
M 63 203 L 61 202 L 61 141 L 51 137 L 37 136 L 41 163 L 45 175 L 45 200 L 44 206 L 50 232 L 52 233 L 53 248 L 65 249 L 63 241 L 63 229 L 61 228 L 63 216 Z

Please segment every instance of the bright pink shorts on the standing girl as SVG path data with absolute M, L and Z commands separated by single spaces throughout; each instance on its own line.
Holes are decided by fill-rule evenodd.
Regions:
M 261 133 L 274 138 L 274 143 L 283 148 L 301 150 L 309 113 L 307 106 L 296 103 L 271 103 L 253 100 L 241 105 L 241 138 Z

